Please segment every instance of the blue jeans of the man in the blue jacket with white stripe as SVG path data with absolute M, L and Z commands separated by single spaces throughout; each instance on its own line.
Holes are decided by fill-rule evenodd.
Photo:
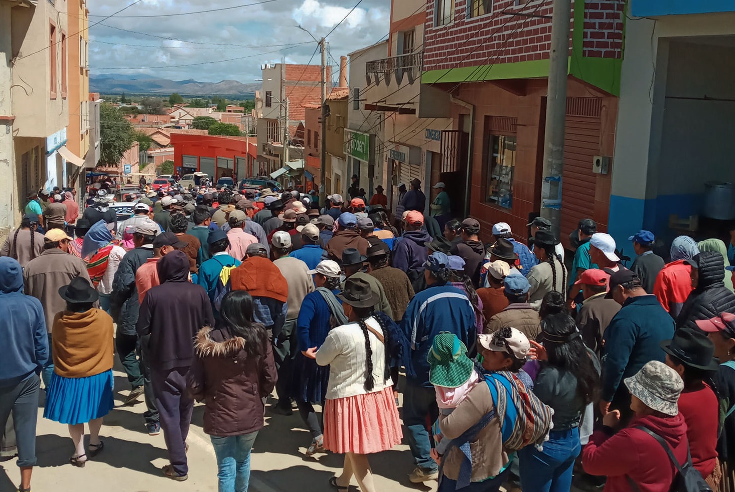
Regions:
M 429 426 L 434 424 L 437 418 L 439 408 L 434 388 L 424 388 L 406 380 L 404 390 L 404 424 L 408 430 L 406 439 L 416 464 L 423 469 L 438 469 L 437 463 L 431 458 L 431 441 L 429 441 L 431 435 L 427 427 L 427 424 Z

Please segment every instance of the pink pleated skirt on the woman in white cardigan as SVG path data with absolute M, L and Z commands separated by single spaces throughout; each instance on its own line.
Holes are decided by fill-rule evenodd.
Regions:
M 403 436 L 392 386 L 376 393 L 326 400 L 324 447 L 331 452 L 370 455 L 401 444 Z

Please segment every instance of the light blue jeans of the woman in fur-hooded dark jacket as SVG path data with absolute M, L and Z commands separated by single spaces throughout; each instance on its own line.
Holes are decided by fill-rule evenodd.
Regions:
M 219 438 L 210 435 L 217 457 L 218 492 L 248 492 L 250 450 L 258 435 L 254 433 Z

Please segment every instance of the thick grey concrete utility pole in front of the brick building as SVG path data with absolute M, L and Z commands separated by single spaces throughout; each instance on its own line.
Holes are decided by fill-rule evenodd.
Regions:
M 554 0 L 551 19 L 549 85 L 546 98 L 541 216 L 551 220 L 551 230 L 557 237 L 560 234 L 562 218 L 562 171 L 564 170 L 564 129 L 567 123 L 570 21 L 570 0 Z

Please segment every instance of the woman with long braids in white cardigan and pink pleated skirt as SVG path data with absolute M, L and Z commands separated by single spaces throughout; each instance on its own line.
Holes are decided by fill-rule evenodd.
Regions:
M 351 478 L 363 492 L 376 492 L 368 455 L 401 443 L 403 433 L 390 380 L 390 330 L 373 316 L 378 295 L 362 279 L 348 279 L 338 296 L 348 324 L 329 331 L 315 352 L 320 366 L 329 364 L 324 408 L 324 447 L 345 453 L 345 466 L 329 485 L 347 491 Z M 359 431 L 359 433 L 356 433 Z

